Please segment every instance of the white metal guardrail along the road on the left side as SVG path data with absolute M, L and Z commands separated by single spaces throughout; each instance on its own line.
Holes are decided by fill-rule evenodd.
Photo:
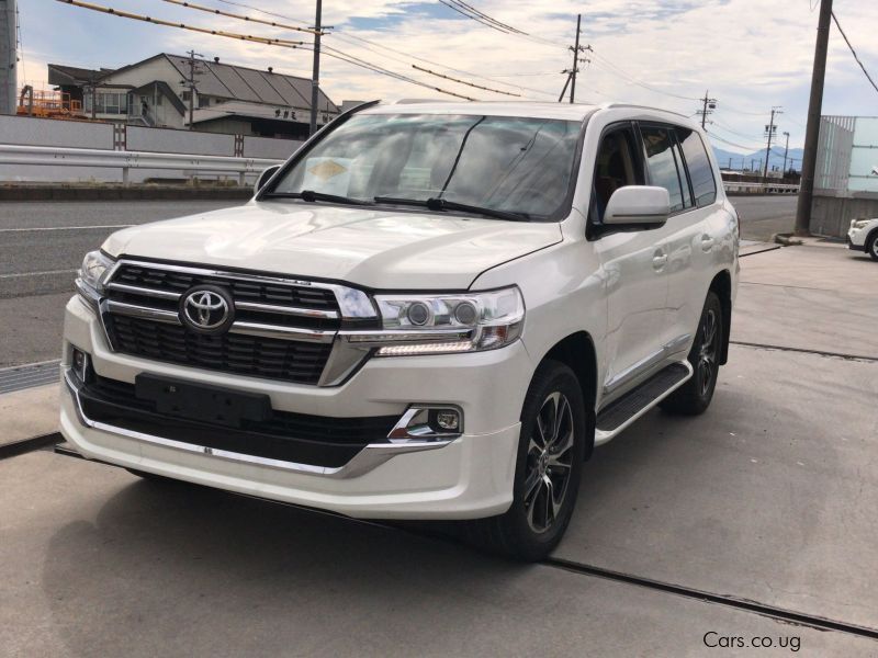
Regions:
M 248 173 L 260 173 L 283 160 L 238 158 L 230 156 L 195 156 L 150 151 L 115 151 L 95 148 L 54 146 L 19 146 L 0 144 L 0 164 L 42 164 L 53 167 L 104 167 L 122 170 L 122 184 L 128 184 L 132 169 L 175 169 L 187 172 L 234 173 L 244 185 Z

